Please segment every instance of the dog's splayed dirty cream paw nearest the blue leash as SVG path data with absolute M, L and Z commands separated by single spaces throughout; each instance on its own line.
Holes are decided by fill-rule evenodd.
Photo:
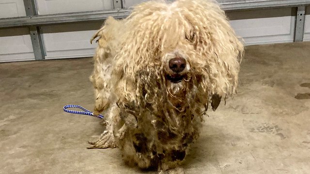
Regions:
M 117 147 L 113 133 L 106 130 L 101 135 L 98 141 L 96 142 L 88 142 L 88 144 L 92 145 L 91 147 L 87 147 L 88 149 L 93 148 L 115 148 Z

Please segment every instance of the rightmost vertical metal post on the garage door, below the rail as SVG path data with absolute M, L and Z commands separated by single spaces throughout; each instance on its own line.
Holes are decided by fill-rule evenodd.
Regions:
M 304 5 L 298 6 L 294 42 L 302 42 L 304 40 L 305 14 L 306 7 Z

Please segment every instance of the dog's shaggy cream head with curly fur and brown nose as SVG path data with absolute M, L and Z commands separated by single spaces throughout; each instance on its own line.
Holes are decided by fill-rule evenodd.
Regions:
M 243 45 L 217 4 L 146 2 L 124 23 L 116 73 L 127 101 L 179 108 L 234 92 Z

